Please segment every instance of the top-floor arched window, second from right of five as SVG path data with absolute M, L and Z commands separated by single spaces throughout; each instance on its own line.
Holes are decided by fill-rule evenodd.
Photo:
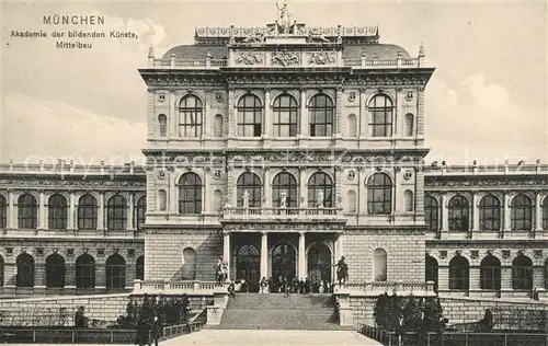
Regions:
M 310 136 L 333 135 L 333 101 L 326 94 L 317 94 L 308 104 Z

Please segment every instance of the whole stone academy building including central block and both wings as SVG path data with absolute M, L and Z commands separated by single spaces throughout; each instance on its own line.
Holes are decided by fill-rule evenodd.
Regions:
M 219 256 L 250 284 L 345 256 L 350 282 L 544 292 L 548 169 L 426 166 L 424 57 L 286 18 L 150 50 L 146 164 L 1 166 L 3 292 L 210 281 Z

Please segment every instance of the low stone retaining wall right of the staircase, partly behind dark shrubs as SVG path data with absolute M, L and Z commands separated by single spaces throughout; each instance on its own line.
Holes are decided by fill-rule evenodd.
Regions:
M 374 325 L 373 310 L 377 298 L 351 296 L 350 304 L 353 310 L 354 324 L 365 323 Z M 449 323 L 470 323 L 483 319 L 486 309 L 522 309 L 522 310 L 548 310 L 547 301 L 516 301 L 501 299 L 481 298 L 441 298 L 444 316 Z

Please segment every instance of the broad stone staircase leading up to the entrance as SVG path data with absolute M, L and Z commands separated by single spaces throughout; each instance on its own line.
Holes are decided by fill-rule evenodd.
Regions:
M 240 293 L 230 298 L 215 328 L 342 330 L 332 296 L 284 293 Z

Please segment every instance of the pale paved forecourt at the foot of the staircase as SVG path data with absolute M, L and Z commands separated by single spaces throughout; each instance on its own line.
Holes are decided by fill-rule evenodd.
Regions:
M 161 343 L 162 346 L 212 345 L 212 346 L 256 346 L 256 345 L 341 345 L 377 346 L 374 339 L 351 331 L 272 331 L 272 330 L 203 330 Z

